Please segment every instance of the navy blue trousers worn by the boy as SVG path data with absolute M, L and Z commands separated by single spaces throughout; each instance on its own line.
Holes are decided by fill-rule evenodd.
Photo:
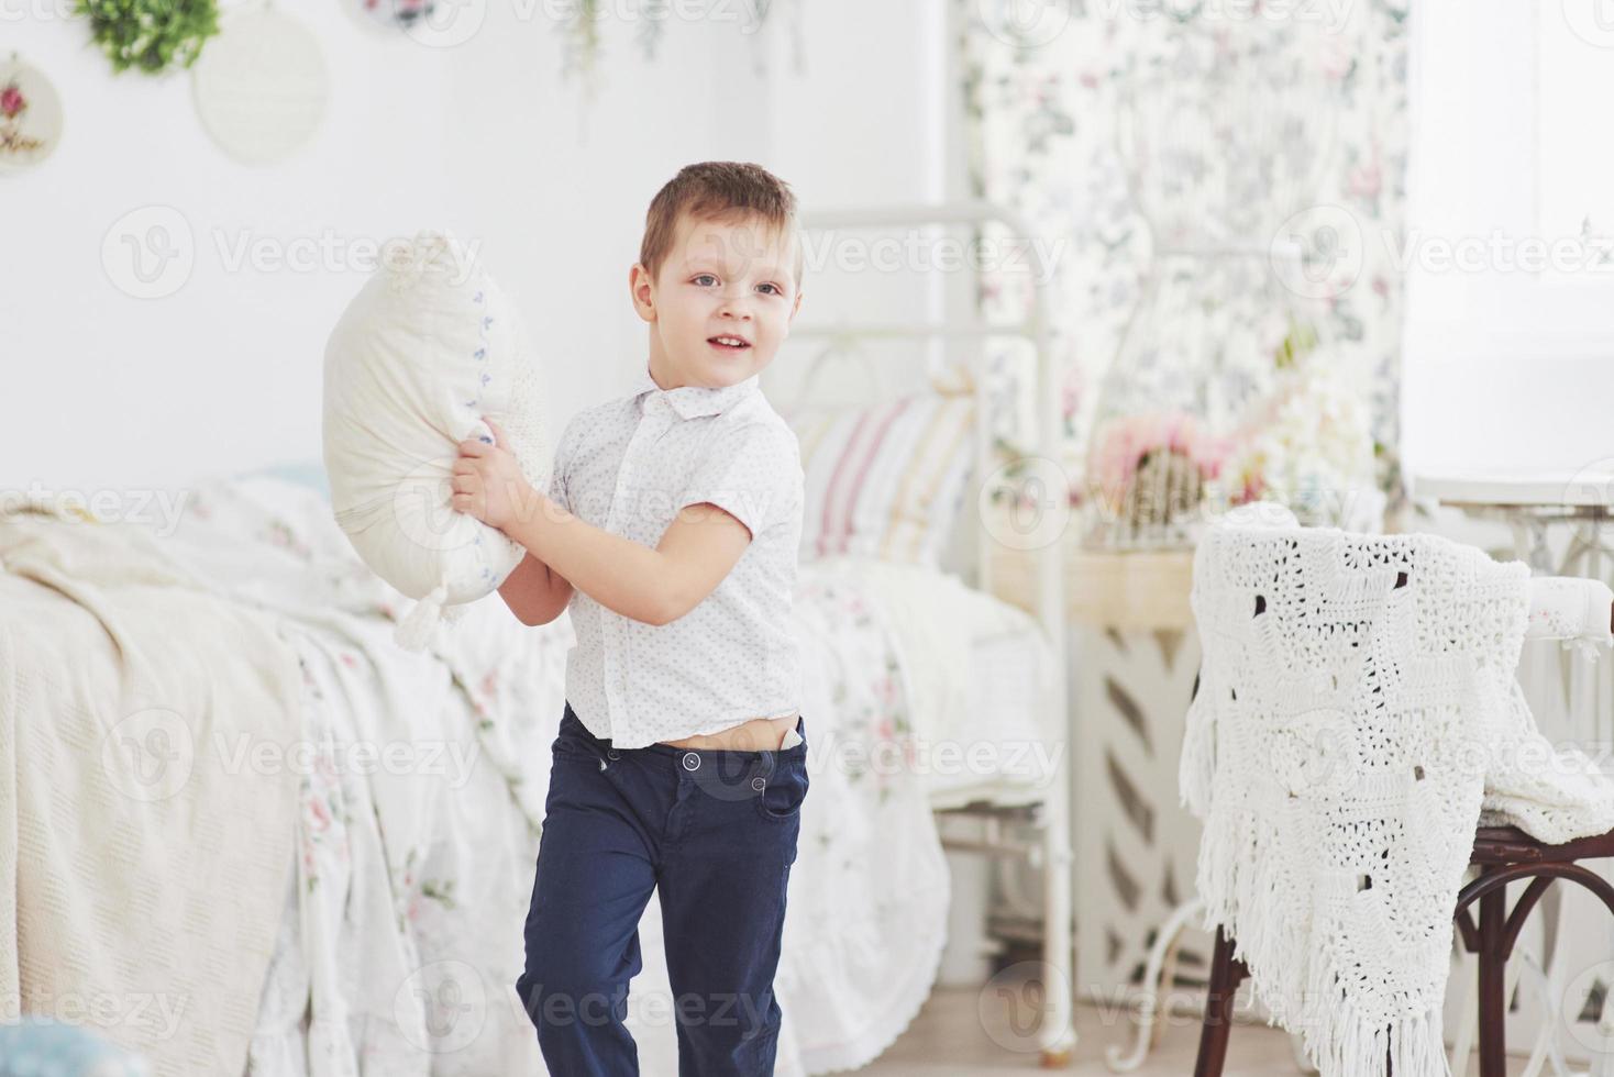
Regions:
M 639 916 L 660 895 L 679 1075 L 773 1072 L 773 972 L 807 796 L 802 743 L 784 751 L 613 748 L 567 703 L 516 992 L 555 1077 L 639 1072 L 628 980 Z

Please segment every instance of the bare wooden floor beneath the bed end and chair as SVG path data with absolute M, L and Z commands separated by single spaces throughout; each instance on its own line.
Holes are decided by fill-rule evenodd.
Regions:
M 1104 1051 L 1110 1043 L 1128 1053 L 1133 1043 L 1131 1019 L 1125 1013 L 1094 1004 L 1077 1006 L 1075 1058 L 1065 1069 L 1041 1069 L 1038 1054 L 1007 1030 L 1007 1019 L 983 1016 L 980 992 L 936 988 L 909 1030 L 889 1051 L 855 1071 L 860 1077 L 994 1077 L 997 1074 L 1065 1074 L 1068 1077 L 1109 1077 Z M 1167 1019 L 1160 1043 L 1136 1077 L 1190 1077 L 1199 1051 L 1199 1025 L 1186 1016 Z M 1509 1059 L 1509 1074 L 1522 1074 L 1525 1059 Z M 1299 1077 L 1288 1033 L 1262 1024 L 1235 1025 L 1223 1077 L 1283 1074 Z M 1469 1074 L 1478 1074 L 1474 1059 Z

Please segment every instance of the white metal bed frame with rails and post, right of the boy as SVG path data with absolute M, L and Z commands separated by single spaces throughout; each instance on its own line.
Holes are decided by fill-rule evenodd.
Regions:
M 863 208 L 834 213 L 807 214 L 802 229 L 809 232 L 822 231 L 880 231 L 893 227 L 938 227 L 938 226 L 1002 226 L 1015 239 L 1030 243 L 1031 231 L 1015 213 L 985 202 L 957 202 L 923 206 L 891 206 Z M 933 271 L 935 272 L 935 271 Z M 981 318 L 965 321 L 920 321 L 920 322 L 826 322 L 804 324 L 792 327 L 796 339 L 825 339 L 830 342 L 826 353 L 855 343 L 857 340 L 986 340 L 991 337 L 1018 337 L 1030 342 L 1036 351 L 1036 403 L 1038 403 L 1038 453 L 1047 461 L 1060 459 L 1060 413 L 1059 393 L 1054 382 L 1051 332 L 1047 321 L 1049 295 L 1047 284 L 1041 279 L 1035 282 L 1030 310 L 1025 318 L 1009 324 L 989 324 Z M 823 356 L 820 356 L 823 358 Z M 991 543 L 986 513 L 978 509 L 981 485 L 993 469 L 993 435 L 989 397 L 986 392 L 986 371 L 980 353 L 972 355 L 970 368 L 975 382 L 975 469 L 970 492 L 965 498 L 967 509 L 975 514 L 975 556 L 976 556 L 976 588 L 991 592 Z M 1064 497 L 1062 490 L 1054 492 Z M 1064 608 L 1064 543 L 1051 540 L 1036 551 L 1036 618 L 1052 647 L 1056 658 L 1054 690 L 1047 701 L 1051 714 L 1046 727 L 1068 730 L 1067 711 L 1067 645 L 1065 645 L 1065 608 Z M 1067 740 L 1070 740 L 1067 737 Z M 1036 1033 L 1038 1050 L 1044 1067 L 1067 1066 L 1077 1043 L 1075 1024 L 1072 1021 L 1073 995 L 1073 932 L 1072 932 L 1072 850 L 1070 850 L 1070 774 L 1072 751 L 1056 756 L 1052 780 L 1046 795 L 1031 808 L 1031 819 L 1039 830 L 1039 840 L 1033 843 L 1015 843 L 1006 840 L 1001 821 L 1006 808 L 989 801 L 975 801 L 962 808 L 939 809 L 944 814 L 981 817 L 985 837 L 978 842 L 944 840 L 944 846 L 970 850 L 991 856 L 1028 856 L 1031 863 L 1041 863 L 1044 874 L 1043 888 L 1043 998 L 1039 1027 Z M 1020 800 L 1017 805 L 1023 805 Z

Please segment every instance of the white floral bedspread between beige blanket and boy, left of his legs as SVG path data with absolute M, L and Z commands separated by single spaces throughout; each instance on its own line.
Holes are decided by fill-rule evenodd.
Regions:
M 300 669 L 295 871 L 247 1072 L 544 1072 L 513 983 L 570 624 L 479 603 L 407 653 L 408 601 L 274 479 L 195 490 L 169 548 L 273 611 Z

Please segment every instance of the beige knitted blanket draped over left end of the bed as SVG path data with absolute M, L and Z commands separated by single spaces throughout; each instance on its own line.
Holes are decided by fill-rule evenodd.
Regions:
M 291 885 L 295 658 L 142 530 L 0 514 L 0 1019 L 240 1074 Z

